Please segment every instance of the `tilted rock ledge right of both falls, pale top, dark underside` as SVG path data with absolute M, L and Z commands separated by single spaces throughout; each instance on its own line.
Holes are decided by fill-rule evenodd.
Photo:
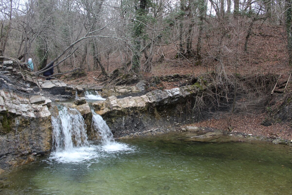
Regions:
M 179 124 L 192 118 L 194 96 L 206 89 L 203 84 L 188 85 L 170 90 L 154 90 L 142 96 L 118 99 L 110 96 L 93 103 L 95 112 L 102 115 L 114 137 L 136 135 L 141 132 Z

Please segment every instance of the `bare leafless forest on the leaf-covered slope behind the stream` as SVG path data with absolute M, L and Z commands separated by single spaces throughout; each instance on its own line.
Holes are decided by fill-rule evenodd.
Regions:
M 32 58 L 38 75 L 51 61 L 58 73 L 103 77 L 116 68 L 152 73 L 159 64 L 226 74 L 253 63 L 251 37 L 271 29 L 281 46 L 274 55 L 292 63 L 291 1 L 4 0 L 0 14 L 2 53 Z

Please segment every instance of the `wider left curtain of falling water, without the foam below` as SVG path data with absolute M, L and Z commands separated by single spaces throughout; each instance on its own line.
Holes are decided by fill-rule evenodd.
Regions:
M 76 109 L 63 107 L 57 117 L 52 116 L 53 150 L 73 152 L 88 146 L 86 124 Z

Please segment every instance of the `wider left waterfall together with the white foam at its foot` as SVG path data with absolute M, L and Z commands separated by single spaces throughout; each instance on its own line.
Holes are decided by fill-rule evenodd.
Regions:
M 63 107 L 52 116 L 53 152 L 50 159 L 62 163 L 79 163 L 98 156 L 89 147 L 86 124 L 78 110 Z

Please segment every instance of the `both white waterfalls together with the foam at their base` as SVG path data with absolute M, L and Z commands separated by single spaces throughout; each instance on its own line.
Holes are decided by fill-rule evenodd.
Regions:
M 50 160 L 59 163 L 98 161 L 110 153 L 133 152 L 126 144 L 114 141 L 112 132 L 102 117 L 92 110 L 92 128 L 98 132 L 101 145 L 89 145 L 86 124 L 79 111 L 64 107 L 57 117 L 52 116 L 53 152 Z

